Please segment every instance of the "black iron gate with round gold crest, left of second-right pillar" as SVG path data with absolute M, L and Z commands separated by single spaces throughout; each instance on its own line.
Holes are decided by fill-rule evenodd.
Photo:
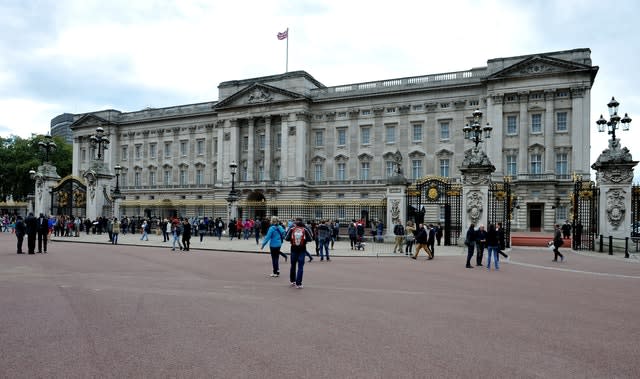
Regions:
M 407 191 L 407 217 L 416 224 L 443 222 L 444 244 L 456 245 L 462 233 L 462 185 L 450 178 L 418 180 Z

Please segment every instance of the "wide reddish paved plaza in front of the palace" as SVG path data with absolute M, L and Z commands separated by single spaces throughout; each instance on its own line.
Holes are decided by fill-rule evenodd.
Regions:
M 139 238 L 0 233 L 0 378 L 640 377 L 636 258 L 514 248 L 488 272 L 340 241 L 297 290 L 255 240 Z

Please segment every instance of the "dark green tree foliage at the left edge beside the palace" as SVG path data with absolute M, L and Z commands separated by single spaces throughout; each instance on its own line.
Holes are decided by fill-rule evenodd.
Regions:
M 9 196 L 16 201 L 26 201 L 33 193 L 35 185 L 29 170 L 37 171 L 45 160 L 45 152 L 38 145 L 44 140 L 43 135 L 0 137 L 0 201 Z M 49 162 L 56 166 L 60 177 L 65 177 L 71 174 L 72 146 L 60 137 L 53 137 L 53 141 L 57 147 L 49 153 Z

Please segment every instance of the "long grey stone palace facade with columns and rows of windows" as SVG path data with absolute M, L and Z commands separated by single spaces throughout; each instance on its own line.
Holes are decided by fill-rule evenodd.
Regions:
M 492 180 L 511 183 L 512 230 L 551 230 L 570 216 L 572 178 L 590 173 L 598 72 L 590 54 L 494 58 L 466 71 L 333 87 L 293 71 L 222 82 L 205 103 L 77 114 L 72 175 L 93 180 L 100 161 L 108 185 L 98 189 L 99 213 L 117 205 L 134 217 L 226 218 L 233 188 L 242 218 L 320 204 L 335 208 L 306 216 L 351 219 L 344 209 L 356 204 L 384 219 L 376 207 L 398 171 L 409 187 L 425 177 L 460 181 L 473 146 L 463 128 L 479 110 L 492 130 L 480 146 Z

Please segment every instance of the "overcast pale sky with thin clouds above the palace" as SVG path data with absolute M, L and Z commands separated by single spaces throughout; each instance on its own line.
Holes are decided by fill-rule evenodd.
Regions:
M 640 2 L 0 0 L 0 136 L 53 117 L 213 101 L 227 80 L 305 70 L 327 86 L 462 71 L 499 57 L 590 48 L 596 132 L 615 96 L 640 159 Z M 635 36 L 635 37 L 634 37 Z M 636 178 L 640 177 L 636 168 Z

